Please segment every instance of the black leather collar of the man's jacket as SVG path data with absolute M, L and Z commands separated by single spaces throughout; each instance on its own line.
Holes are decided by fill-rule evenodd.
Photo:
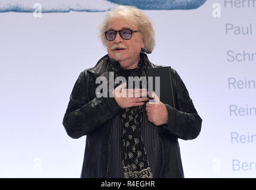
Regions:
M 147 68 L 157 67 L 156 65 L 152 64 L 152 62 L 149 61 L 149 58 L 147 58 L 146 53 L 141 52 L 140 59 L 144 59 L 144 62 L 146 63 Z M 119 62 L 114 61 L 113 59 L 110 59 L 109 55 L 107 54 L 103 56 L 94 67 L 87 69 L 87 71 L 94 74 L 95 77 L 104 75 L 107 72 L 107 64 L 109 63 L 114 64 L 114 69 L 118 69 L 118 70 L 121 69 Z

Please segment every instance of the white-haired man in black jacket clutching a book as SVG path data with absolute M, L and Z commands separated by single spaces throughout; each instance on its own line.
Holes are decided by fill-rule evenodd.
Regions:
M 158 67 L 145 54 L 155 46 L 152 24 L 139 9 L 120 5 L 107 14 L 101 40 L 108 54 L 81 72 L 63 118 L 70 137 L 87 135 L 81 178 L 183 178 L 178 138 L 196 138 L 202 119 L 174 69 L 175 109 L 141 85 L 131 90 L 126 83 L 115 83 L 107 89 L 112 96 L 95 93 L 97 77 L 111 83 L 112 72 L 128 81 Z M 128 96 L 117 96 L 120 91 Z

